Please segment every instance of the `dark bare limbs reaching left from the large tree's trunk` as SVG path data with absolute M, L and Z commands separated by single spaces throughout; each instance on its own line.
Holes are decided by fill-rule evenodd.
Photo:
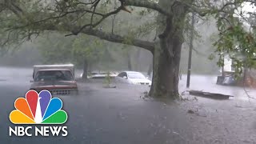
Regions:
M 95 0 L 93 3 L 94 3 L 94 6 L 97 6 L 95 3 L 99 2 L 99 0 Z M 136 1 L 136 0 L 120 0 L 120 2 L 122 2 L 122 6 L 139 6 L 139 7 L 146 7 L 146 8 L 149 8 L 149 9 L 152 9 L 152 10 L 157 10 L 159 13 L 162 13 L 162 14 L 166 14 L 166 15 L 169 15 L 165 10 L 162 10 L 160 6 L 158 6 L 157 3 L 155 2 L 150 2 L 150 1 L 146 1 L 146 0 L 140 0 L 140 1 Z M 130 45 L 130 46 L 138 46 L 138 47 L 141 47 L 145 50 L 150 50 L 151 52 L 154 51 L 154 42 L 148 42 L 148 41 L 144 41 L 144 40 L 140 40 L 140 39 L 131 39 L 131 40 L 128 40 L 127 41 L 127 38 L 126 36 L 121 36 L 121 35 L 118 35 L 118 34 L 111 34 L 111 33 L 106 33 L 106 32 L 102 32 L 102 30 L 94 30 L 92 29 L 93 27 L 95 26 L 98 26 L 99 23 L 101 23 L 104 19 L 108 18 L 110 15 L 112 14 L 118 14 L 118 12 L 120 10 L 122 10 L 122 6 L 118 7 L 118 9 L 114 10 L 114 11 L 111 11 L 107 14 L 98 14 L 98 13 L 95 13 L 94 10 L 84 10 L 86 12 L 89 12 L 89 13 L 92 13 L 92 14 L 98 14 L 98 15 L 101 15 L 102 18 L 98 20 L 98 22 L 95 22 L 95 23 L 87 23 L 85 24 L 84 26 L 64 26 L 65 29 L 60 29 L 59 27 L 62 27 L 62 26 L 58 26 L 58 24 L 54 25 L 54 24 L 46 24 L 45 22 L 50 20 L 50 19 L 54 19 L 54 18 L 61 18 L 61 17 L 64 17 L 66 16 L 67 14 L 72 14 L 74 11 L 69 11 L 69 12 L 64 12 L 64 14 L 60 14 L 58 16 L 53 16 L 53 17 L 50 17 L 50 18 L 45 18 L 45 19 L 42 19 L 42 20 L 38 20 L 37 22 L 30 22 L 30 24 L 26 24 L 25 26 L 18 26 L 18 27 L 13 27 L 11 28 L 10 30 L 17 30 L 19 28 L 22 28 L 22 27 L 26 27 L 26 26 L 30 26 L 30 25 L 33 25 L 33 24 L 37 24 L 38 26 L 41 25 L 42 23 L 42 26 L 43 27 L 40 27 L 38 28 L 38 30 L 57 30 L 57 31 L 71 31 L 73 34 L 78 34 L 78 33 L 82 33 L 82 34 L 87 34 L 87 35 L 91 35 L 91 36 L 95 36 L 95 37 L 98 37 L 98 38 L 101 38 L 103 40 L 106 40 L 106 41 L 109 41 L 109 42 L 117 42 L 117 43 L 122 43 L 122 44 L 126 44 L 126 45 Z M 78 10 L 79 12 L 82 11 L 82 10 Z M 46 24 L 46 25 L 44 25 Z M 87 26 L 89 26 L 87 28 Z

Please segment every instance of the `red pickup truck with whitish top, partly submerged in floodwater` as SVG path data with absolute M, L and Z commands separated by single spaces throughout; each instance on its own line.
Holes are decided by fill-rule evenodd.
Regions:
M 52 95 L 78 94 L 78 85 L 74 78 L 74 65 L 34 66 L 30 90 L 49 90 Z

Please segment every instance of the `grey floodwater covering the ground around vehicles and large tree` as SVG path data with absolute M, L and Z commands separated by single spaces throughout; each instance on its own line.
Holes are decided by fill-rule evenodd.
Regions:
M 216 101 L 197 98 L 185 102 L 143 100 L 147 86 L 118 85 L 102 88 L 102 83 L 79 83 L 80 94 L 60 97 L 69 118 L 66 137 L 10 137 L 10 111 L 14 101 L 30 87 L 32 70 L 0 68 L 0 142 L 54 144 L 164 144 L 164 143 L 256 143 L 255 102 L 238 87 L 216 86 L 215 78 L 193 76 L 191 88 L 234 95 Z M 186 90 L 182 77 L 180 91 Z M 249 92 L 254 96 L 255 90 Z M 190 99 L 194 97 L 185 96 Z M 188 113 L 192 110 L 193 113 Z M 16 125 L 17 126 L 17 125 Z

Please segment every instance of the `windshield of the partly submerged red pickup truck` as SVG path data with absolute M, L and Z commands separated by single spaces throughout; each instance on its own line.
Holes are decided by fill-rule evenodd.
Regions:
M 34 78 L 35 82 L 72 80 L 74 79 L 70 70 L 42 70 L 38 71 Z

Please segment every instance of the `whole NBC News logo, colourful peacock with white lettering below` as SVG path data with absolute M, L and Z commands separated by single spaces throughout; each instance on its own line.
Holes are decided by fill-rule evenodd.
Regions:
M 10 113 L 10 122 L 20 125 L 59 125 L 67 120 L 66 111 L 62 109 L 62 100 L 52 98 L 48 90 L 42 90 L 39 94 L 34 90 L 26 93 L 26 98 L 18 98 L 14 102 L 13 110 Z M 9 135 L 33 136 L 32 126 L 9 127 Z M 58 136 L 66 137 L 66 126 L 34 126 L 34 136 Z

